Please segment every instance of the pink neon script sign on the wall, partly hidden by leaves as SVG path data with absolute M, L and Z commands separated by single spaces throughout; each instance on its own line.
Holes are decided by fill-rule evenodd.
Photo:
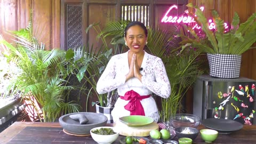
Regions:
M 170 6 L 169 10 L 166 11 L 166 13 L 164 14 L 164 17 L 162 18 L 161 22 L 162 23 L 187 23 L 187 24 L 194 24 L 193 29 L 201 29 L 200 26 L 197 25 L 196 21 L 194 20 L 193 17 L 190 17 L 189 15 L 180 15 L 180 16 L 173 16 L 170 15 L 169 13 L 174 10 L 174 9 L 178 9 L 177 5 L 172 5 Z M 204 11 L 204 7 L 200 7 L 201 11 Z M 185 11 L 185 13 L 187 13 L 187 10 Z M 209 22 L 209 29 L 216 29 L 216 26 L 213 22 L 212 19 L 208 20 Z M 225 27 L 225 32 L 228 30 L 228 25 L 225 22 L 224 23 L 224 27 Z

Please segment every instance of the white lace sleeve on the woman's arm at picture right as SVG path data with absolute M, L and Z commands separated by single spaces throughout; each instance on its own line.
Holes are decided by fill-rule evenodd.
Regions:
M 154 74 L 155 81 L 150 77 Z M 163 61 L 158 58 L 154 60 L 154 64 L 149 71 L 146 71 L 145 76 L 142 76 L 141 81 L 151 92 L 163 98 L 170 97 L 171 85 L 167 77 Z

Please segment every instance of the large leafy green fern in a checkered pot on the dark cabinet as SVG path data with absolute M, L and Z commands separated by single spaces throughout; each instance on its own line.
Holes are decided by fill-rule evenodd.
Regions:
M 219 17 L 217 11 L 212 10 L 213 22 L 216 28 L 212 31 L 209 29 L 209 23 L 203 12 L 191 3 L 187 6 L 195 8 L 195 13 L 188 12 L 188 14 L 194 18 L 198 26 L 201 26 L 207 42 L 202 43 L 202 37 L 199 37 L 198 33 L 188 27 L 194 38 L 188 39 L 186 46 L 192 44 L 207 53 L 211 76 L 220 78 L 239 77 L 242 53 L 252 49 L 251 46 L 256 41 L 256 13 L 253 13 L 244 23 L 239 23 L 239 16 L 235 12 L 231 28 L 225 31 L 224 21 Z

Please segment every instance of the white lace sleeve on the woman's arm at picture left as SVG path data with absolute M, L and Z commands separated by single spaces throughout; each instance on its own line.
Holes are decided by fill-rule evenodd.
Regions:
M 103 71 L 97 83 L 97 92 L 99 94 L 107 93 L 115 90 L 119 85 L 125 83 L 125 75 L 116 76 L 116 62 L 115 57 L 112 57 L 106 69 Z

